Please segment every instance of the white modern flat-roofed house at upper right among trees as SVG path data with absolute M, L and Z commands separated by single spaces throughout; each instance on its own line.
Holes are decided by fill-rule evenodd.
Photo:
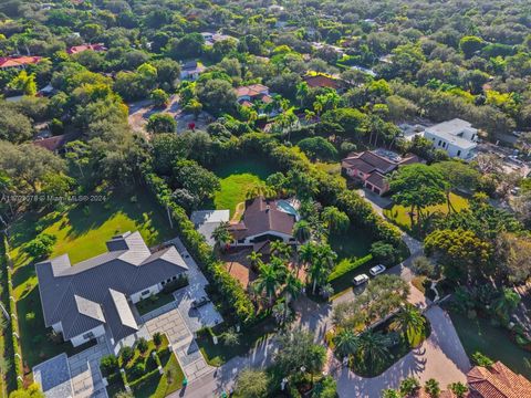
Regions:
M 470 160 L 476 156 L 478 129 L 460 118 L 426 127 L 424 137 L 429 139 L 436 149 L 446 150 L 450 157 Z

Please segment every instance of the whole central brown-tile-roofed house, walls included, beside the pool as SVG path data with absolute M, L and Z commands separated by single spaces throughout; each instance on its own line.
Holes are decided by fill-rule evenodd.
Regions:
M 275 200 L 259 197 L 246 201 L 241 221 L 231 224 L 229 231 L 236 247 L 254 247 L 270 240 L 294 244 L 294 223 L 295 217 L 279 209 Z

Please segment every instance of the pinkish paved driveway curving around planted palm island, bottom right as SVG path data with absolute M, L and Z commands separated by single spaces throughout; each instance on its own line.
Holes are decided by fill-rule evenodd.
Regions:
M 340 397 L 381 397 L 383 389 L 397 388 L 408 376 L 417 377 L 421 384 L 435 378 L 441 387 L 454 381 L 466 383 L 470 362 L 450 317 L 439 306 L 433 306 L 425 315 L 431 324 L 429 337 L 382 375 L 364 378 L 347 368 L 339 369 L 334 375 Z

